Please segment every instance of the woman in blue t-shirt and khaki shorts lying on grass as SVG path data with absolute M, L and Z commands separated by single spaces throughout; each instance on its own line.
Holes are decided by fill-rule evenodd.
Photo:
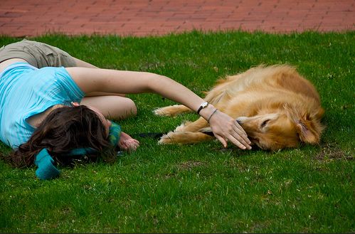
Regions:
M 121 94 L 141 92 L 196 110 L 224 147 L 230 141 L 250 149 L 234 119 L 174 80 L 96 68 L 53 46 L 23 40 L 0 49 L 0 139 L 14 149 L 7 161 L 16 167 L 34 163 L 40 179 L 51 179 L 59 174 L 54 161 L 68 163 L 82 155 L 113 161 L 115 147 L 137 149 L 139 142 L 107 119 L 136 115 L 134 102 Z

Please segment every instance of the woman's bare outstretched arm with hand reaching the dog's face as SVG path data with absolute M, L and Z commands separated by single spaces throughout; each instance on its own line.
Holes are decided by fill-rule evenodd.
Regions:
M 85 92 L 142 93 L 154 92 L 198 110 L 204 100 L 184 85 L 164 75 L 100 68 L 66 68 L 75 83 Z M 227 140 L 240 149 L 251 149 L 244 129 L 232 117 L 208 105 L 199 113 L 209 124 L 216 138 L 227 146 Z

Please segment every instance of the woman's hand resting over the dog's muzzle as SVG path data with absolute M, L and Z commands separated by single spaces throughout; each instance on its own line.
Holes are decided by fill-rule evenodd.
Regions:
M 223 144 L 223 147 L 227 147 L 227 141 L 229 140 L 240 149 L 251 149 L 251 142 L 243 127 L 229 115 L 217 111 L 211 117 L 209 124 L 213 134 Z

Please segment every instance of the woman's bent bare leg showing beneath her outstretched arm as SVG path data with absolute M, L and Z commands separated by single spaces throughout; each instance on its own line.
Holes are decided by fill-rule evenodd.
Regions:
M 80 105 L 96 107 L 107 119 L 125 119 L 137 115 L 137 107 L 128 97 L 84 97 Z

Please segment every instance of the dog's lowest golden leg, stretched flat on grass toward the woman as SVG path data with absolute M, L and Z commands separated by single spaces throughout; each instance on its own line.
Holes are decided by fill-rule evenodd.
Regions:
M 191 144 L 213 139 L 201 132 L 169 132 L 161 137 L 159 144 Z

